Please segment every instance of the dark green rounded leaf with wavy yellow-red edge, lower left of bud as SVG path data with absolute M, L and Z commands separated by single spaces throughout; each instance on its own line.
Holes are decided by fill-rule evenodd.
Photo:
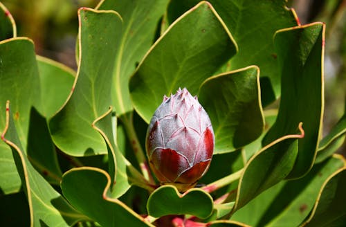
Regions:
M 61 188 L 67 200 L 101 226 L 151 226 L 111 194 L 111 178 L 95 167 L 79 167 L 65 172 Z

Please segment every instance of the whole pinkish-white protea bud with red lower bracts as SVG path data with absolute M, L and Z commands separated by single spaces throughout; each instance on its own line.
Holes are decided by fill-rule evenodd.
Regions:
M 163 97 L 147 129 L 149 165 L 161 184 L 183 192 L 206 173 L 214 150 L 208 114 L 187 89 Z

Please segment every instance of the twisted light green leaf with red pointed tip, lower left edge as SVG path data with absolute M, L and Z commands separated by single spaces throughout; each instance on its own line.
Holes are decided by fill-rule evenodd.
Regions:
M 86 219 L 73 209 L 62 196 L 35 170 L 19 140 L 15 122 L 6 105 L 6 128 L 2 140 L 12 149 L 17 171 L 21 177 L 30 210 L 30 226 L 66 226 Z

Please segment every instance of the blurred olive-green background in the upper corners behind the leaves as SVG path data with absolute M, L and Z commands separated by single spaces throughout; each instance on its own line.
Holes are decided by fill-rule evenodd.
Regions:
M 2 0 L 1 2 L 15 18 L 17 35 L 33 39 L 38 55 L 76 69 L 77 10 L 80 7 L 94 8 L 98 0 Z M 295 9 L 301 24 L 313 21 L 323 21 L 327 24 L 323 129 L 326 135 L 345 112 L 346 0 L 289 0 L 286 5 Z M 277 103 L 274 107 L 275 105 Z M 340 152 L 346 154 L 345 143 Z

